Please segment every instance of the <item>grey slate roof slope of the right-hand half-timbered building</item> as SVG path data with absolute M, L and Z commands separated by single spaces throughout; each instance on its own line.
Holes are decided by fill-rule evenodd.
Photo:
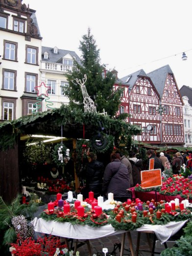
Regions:
M 157 89 L 157 91 L 160 95 L 160 98 L 162 98 L 162 96 L 163 96 L 163 91 L 164 91 L 164 87 L 166 84 L 166 78 L 167 78 L 168 74 L 173 75 L 173 72 L 172 72 L 171 68 L 169 67 L 169 65 L 163 66 L 163 67 L 156 69 L 147 74 L 147 76 L 151 78 L 155 88 Z

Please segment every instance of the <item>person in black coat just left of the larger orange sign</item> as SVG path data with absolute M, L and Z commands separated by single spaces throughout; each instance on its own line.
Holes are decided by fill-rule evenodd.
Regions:
M 143 160 L 137 157 L 130 157 L 128 160 L 132 166 L 133 186 L 141 184 L 141 171 L 143 170 Z

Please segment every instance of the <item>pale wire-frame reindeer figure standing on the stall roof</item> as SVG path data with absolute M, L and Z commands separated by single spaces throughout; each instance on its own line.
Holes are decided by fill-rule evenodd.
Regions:
M 87 76 L 84 75 L 83 80 L 75 79 L 76 82 L 81 86 L 81 91 L 83 94 L 83 104 L 84 104 L 84 111 L 85 112 L 95 112 L 96 113 L 96 106 L 94 101 L 90 98 L 89 94 L 87 93 L 87 89 L 85 87 L 85 82 L 87 80 Z

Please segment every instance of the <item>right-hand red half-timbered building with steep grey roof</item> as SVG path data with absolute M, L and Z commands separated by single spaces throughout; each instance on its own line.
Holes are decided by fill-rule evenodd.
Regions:
M 161 144 L 183 145 L 183 100 L 169 65 L 147 74 L 160 95 Z M 162 109 L 163 108 L 163 109 Z

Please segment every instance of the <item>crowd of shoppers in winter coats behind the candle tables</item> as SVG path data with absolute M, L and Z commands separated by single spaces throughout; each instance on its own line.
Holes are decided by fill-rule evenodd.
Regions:
M 88 154 L 86 164 L 86 187 L 83 191 L 84 198 L 88 197 L 88 192 L 93 191 L 95 198 L 100 195 L 106 196 L 108 193 L 114 194 L 114 200 L 124 202 L 130 198 L 127 190 L 141 184 L 141 171 L 149 170 L 149 161 L 154 158 L 154 169 L 161 169 L 163 172 L 166 163 L 172 167 L 173 174 L 179 174 L 181 166 L 185 163 L 192 171 L 192 152 L 177 152 L 170 156 L 168 153 L 155 153 L 154 150 L 147 150 L 147 161 L 139 159 L 134 152 L 129 157 L 120 151 L 111 154 L 111 162 L 104 168 L 103 163 L 96 159 L 96 154 Z

